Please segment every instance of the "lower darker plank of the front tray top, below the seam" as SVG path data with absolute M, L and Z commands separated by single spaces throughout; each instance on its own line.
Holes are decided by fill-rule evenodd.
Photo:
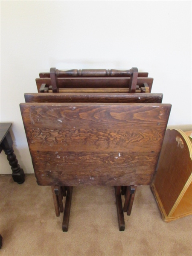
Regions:
M 57 152 L 57 151 L 56 151 Z M 56 153 L 55 152 L 55 153 Z M 72 159 L 75 160 L 66 163 L 65 160 L 70 159 L 70 153 L 72 154 Z M 93 153 L 92 153 L 93 154 Z M 147 153 L 141 154 L 139 157 L 133 156 L 133 154 L 130 152 L 130 155 L 127 153 L 126 158 L 124 156 L 124 152 L 121 153 L 122 160 L 119 159 L 115 162 L 116 158 L 118 157 L 119 153 L 114 152 L 111 154 L 108 154 L 106 152 L 102 152 L 101 154 L 96 154 L 96 156 L 91 156 L 91 154 L 81 154 L 81 153 L 74 153 L 74 152 L 68 152 L 65 151 L 63 154 L 59 151 L 58 154 L 55 154 L 55 159 L 52 163 L 48 162 L 45 166 L 45 174 L 42 170 L 44 168 L 44 159 L 47 159 L 48 161 L 51 159 L 51 153 L 44 151 L 43 154 L 33 153 L 34 156 L 39 157 L 43 162 L 37 163 L 36 160 L 33 161 L 34 168 L 36 169 L 36 173 L 38 175 L 38 183 L 40 185 L 44 185 L 41 177 L 42 175 L 46 175 L 46 182 L 49 182 L 49 185 L 57 183 L 60 186 L 63 184 L 66 186 L 78 186 L 78 185 L 97 185 L 98 183 L 100 185 L 111 185 L 114 186 L 114 184 L 119 185 L 134 185 L 135 183 L 138 185 L 145 185 L 150 184 L 152 173 L 155 170 L 158 154 L 151 154 L 150 156 L 147 156 Z M 78 160 L 82 158 L 85 160 L 85 163 L 78 164 Z M 100 164 L 97 164 L 95 166 L 92 165 L 91 160 L 94 160 L 94 162 L 99 162 L 99 157 L 105 157 L 105 159 L 102 159 Z M 133 162 L 131 162 L 131 157 L 133 157 Z M 137 157 L 140 159 L 137 160 Z M 64 160 L 64 163 L 62 162 L 56 162 L 56 158 L 61 158 L 61 160 Z M 75 159 L 77 158 L 77 159 Z M 135 160 L 134 160 L 135 158 Z M 144 160 L 148 160 L 148 163 L 145 163 L 144 167 L 141 167 L 140 165 L 143 163 Z M 108 162 L 107 160 L 112 160 L 111 162 Z M 124 163 L 121 163 L 123 161 Z M 88 163 L 87 163 L 88 162 Z M 120 172 L 119 165 L 122 170 Z M 137 165 L 139 167 L 137 168 Z M 106 166 L 106 172 L 105 172 L 105 166 Z M 127 169 L 130 168 L 130 171 L 127 173 Z M 65 171 L 62 172 L 59 176 L 60 169 L 64 169 Z M 54 172 L 51 174 L 51 172 Z M 55 173 L 56 172 L 56 173 Z M 120 172 L 120 173 L 119 173 Z M 125 178 L 124 178 L 125 176 Z M 43 182 L 43 183 L 42 183 Z

